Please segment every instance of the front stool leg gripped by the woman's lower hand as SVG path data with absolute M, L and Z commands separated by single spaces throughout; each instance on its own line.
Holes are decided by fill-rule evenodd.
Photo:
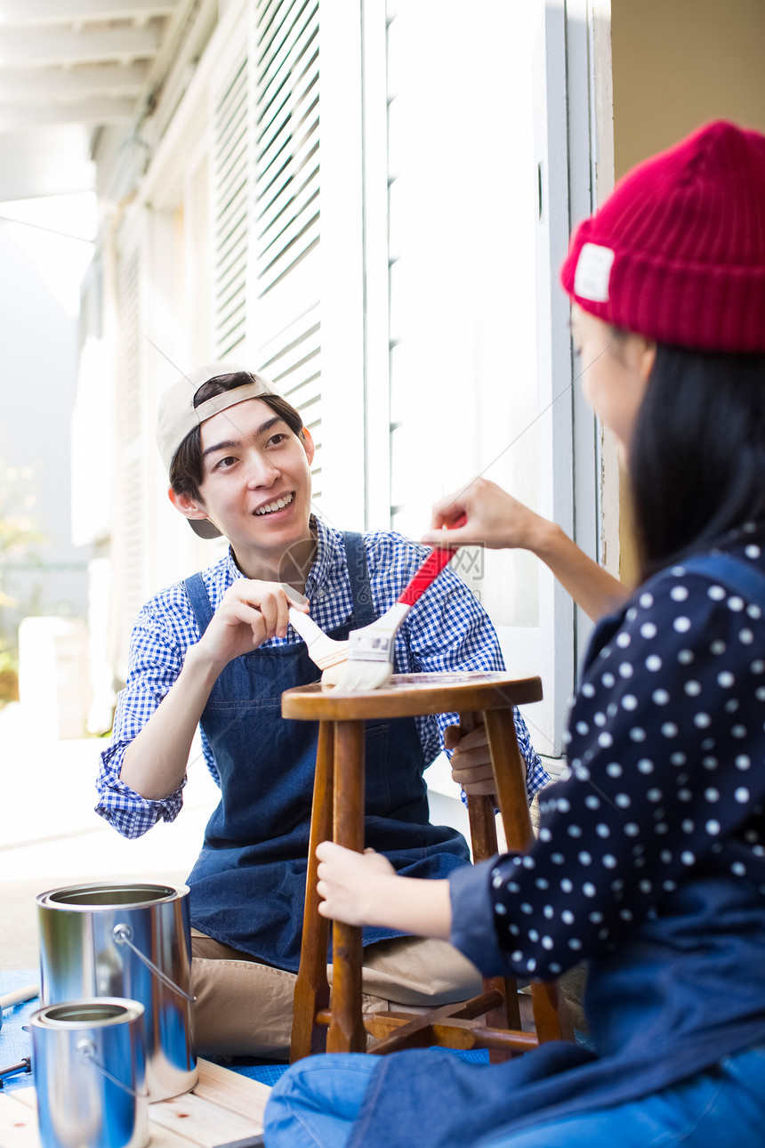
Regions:
M 335 722 L 335 840 L 364 851 L 364 722 Z M 362 1053 L 361 930 L 333 922 L 333 1004 L 328 1053 Z

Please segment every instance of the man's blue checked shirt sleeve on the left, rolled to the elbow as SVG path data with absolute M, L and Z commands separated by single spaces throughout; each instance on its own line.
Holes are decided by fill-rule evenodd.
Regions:
M 96 779 L 101 814 L 123 837 L 141 837 L 159 820 L 174 821 L 178 816 L 186 779 L 173 793 L 161 800 L 149 800 L 119 779 L 127 746 L 146 726 L 165 693 L 180 674 L 190 641 L 179 636 L 167 625 L 167 619 L 179 613 L 180 603 L 167 604 L 167 619 L 157 608 L 157 599 L 143 607 L 131 635 L 127 683 L 117 699 L 112 742 L 101 754 Z

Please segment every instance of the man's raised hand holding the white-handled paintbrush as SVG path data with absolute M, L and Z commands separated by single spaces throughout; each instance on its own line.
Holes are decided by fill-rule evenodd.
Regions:
M 226 590 L 210 625 L 196 645 L 210 664 L 223 669 L 268 638 L 287 636 L 289 607 L 307 613 L 309 606 L 290 600 L 279 582 L 240 577 Z

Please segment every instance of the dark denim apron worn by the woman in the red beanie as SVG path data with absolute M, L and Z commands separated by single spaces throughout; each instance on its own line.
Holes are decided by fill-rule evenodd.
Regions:
M 735 558 L 703 554 L 682 566 L 765 606 L 765 577 Z M 599 622 L 586 665 L 618 630 L 625 610 Z M 656 918 L 593 957 L 585 1013 L 594 1048 L 551 1041 L 491 1066 L 435 1049 L 381 1056 L 348 1148 L 478 1146 L 637 1100 L 760 1046 L 763 893 L 729 872 L 688 879 L 662 900 Z

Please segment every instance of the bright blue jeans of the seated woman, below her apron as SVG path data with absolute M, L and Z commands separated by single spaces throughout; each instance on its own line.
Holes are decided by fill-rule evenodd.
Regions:
M 266 1148 L 345 1148 L 381 1062 L 337 1053 L 294 1064 L 274 1086 L 265 1114 Z M 629 1104 L 599 1108 L 520 1132 L 483 1139 L 481 1148 L 763 1148 L 765 1046 L 725 1057 L 672 1088 Z M 412 1142 L 417 1143 L 417 1130 Z M 467 1148 L 467 1146 L 466 1146 Z

